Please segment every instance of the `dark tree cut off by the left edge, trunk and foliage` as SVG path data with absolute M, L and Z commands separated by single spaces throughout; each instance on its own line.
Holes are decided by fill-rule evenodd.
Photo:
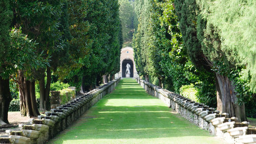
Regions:
M 10 56 L 10 35 L 12 11 L 8 0 L 0 2 L 0 125 L 9 124 L 8 109 L 12 100 L 9 88 L 9 74 L 6 57 Z

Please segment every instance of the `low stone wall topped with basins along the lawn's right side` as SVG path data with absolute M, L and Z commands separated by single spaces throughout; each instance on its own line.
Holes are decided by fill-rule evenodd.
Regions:
M 197 103 L 144 80 L 136 78 L 136 81 L 148 94 L 161 99 L 170 108 L 201 129 L 221 136 L 228 142 L 256 143 L 256 129 L 248 127 L 249 122 L 239 123 L 238 118 L 229 117 L 228 113 L 221 113 L 215 108 L 209 108 L 209 106 Z

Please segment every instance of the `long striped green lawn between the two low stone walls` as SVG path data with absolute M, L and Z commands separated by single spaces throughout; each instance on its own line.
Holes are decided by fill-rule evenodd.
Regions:
M 175 114 L 133 79 L 123 79 L 49 143 L 225 143 Z

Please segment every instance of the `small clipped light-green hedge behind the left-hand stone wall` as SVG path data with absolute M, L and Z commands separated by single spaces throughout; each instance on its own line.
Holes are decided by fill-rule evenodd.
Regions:
M 76 97 L 76 92 L 74 89 L 71 88 L 65 88 L 60 91 L 60 104 L 66 104 L 67 102 L 71 101 Z

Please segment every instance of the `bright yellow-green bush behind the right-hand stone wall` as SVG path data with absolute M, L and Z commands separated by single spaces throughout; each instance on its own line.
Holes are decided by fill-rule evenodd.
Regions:
M 194 86 L 194 84 L 183 85 L 180 88 L 180 94 L 186 98 L 189 98 L 190 100 L 199 102 L 199 100 L 197 98 L 198 97 L 198 89 Z

